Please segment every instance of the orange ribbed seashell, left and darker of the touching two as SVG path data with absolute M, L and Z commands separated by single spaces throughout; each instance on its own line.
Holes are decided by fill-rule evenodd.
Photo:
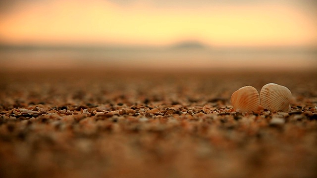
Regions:
M 259 92 L 252 86 L 242 87 L 232 93 L 231 104 L 238 112 L 257 111 L 260 105 Z

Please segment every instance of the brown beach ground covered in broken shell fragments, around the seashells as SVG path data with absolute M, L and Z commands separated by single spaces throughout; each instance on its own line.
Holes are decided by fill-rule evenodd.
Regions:
M 313 178 L 316 76 L 1 72 L 0 177 Z M 232 110 L 233 91 L 267 83 L 292 91 L 289 113 Z

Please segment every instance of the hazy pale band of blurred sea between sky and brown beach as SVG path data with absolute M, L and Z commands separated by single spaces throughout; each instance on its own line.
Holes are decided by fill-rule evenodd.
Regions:
M 0 45 L 2 70 L 316 70 L 315 48 L 171 46 Z

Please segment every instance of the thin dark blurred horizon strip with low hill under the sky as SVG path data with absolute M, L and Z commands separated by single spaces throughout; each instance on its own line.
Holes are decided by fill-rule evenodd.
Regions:
M 244 46 L 244 45 L 235 45 L 235 46 L 219 46 L 219 45 L 208 45 L 206 43 L 200 41 L 182 41 L 175 42 L 172 44 L 166 45 L 128 45 L 128 44 L 49 44 L 49 43 L 20 43 L 20 44 L 12 44 L 12 43 L 2 43 L 0 42 L 0 50 L 3 49 L 209 49 L 209 50 L 217 50 L 217 49 L 233 49 L 233 50 L 261 50 L 261 51 L 283 51 L 283 50 L 299 50 L 299 51 L 310 51 L 317 52 L 317 45 L 270 45 L 270 46 Z

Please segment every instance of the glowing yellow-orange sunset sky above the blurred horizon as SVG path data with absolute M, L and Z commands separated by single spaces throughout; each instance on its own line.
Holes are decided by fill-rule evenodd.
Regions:
M 317 45 L 317 17 L 312 10 L 286 1 L 240 1 L 204 5 L 201 0 L 200 5 L 184 6 L 182 1 L 175 5 L 166 0 L 161 4 L 155 0 L 15 0 L 0 14 L 0 42 L 168 45 L 198 40 L 215 46 Z

